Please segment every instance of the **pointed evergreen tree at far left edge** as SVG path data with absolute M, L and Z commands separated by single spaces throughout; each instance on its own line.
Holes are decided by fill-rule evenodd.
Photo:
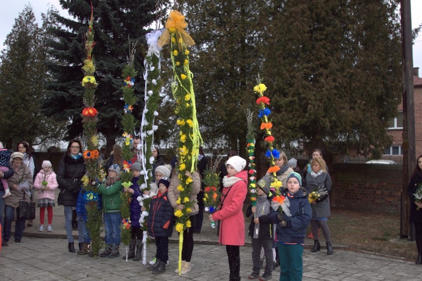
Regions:
M 31 5 L 26 5 L 1 52 L 0 139 L 8 148 L 21 140 L 36 145 L 56 141 L 62 135 L 62 123 L 45 118 L 40 111 L 48 77 L 43 44 L 45 28 L 52 24 L 47 20 L 50 12 L 43 15 L 43 28 L 39 28 Z

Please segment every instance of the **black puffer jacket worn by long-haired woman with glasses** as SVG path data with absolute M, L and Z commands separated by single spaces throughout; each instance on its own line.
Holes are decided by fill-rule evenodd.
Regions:
M 69 154 L 65 154 L 60 160 L 57 169 L 57 182 L 62 195 L 63 206 L 76 206 L 76 199 L 81 189 L 81 178 L 85 174 L 84 158 L 73 159 Z

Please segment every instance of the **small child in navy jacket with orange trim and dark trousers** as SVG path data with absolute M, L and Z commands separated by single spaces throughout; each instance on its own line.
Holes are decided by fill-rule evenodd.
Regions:
M 174 210 L 167 198 L 167 189 L 170 179 L 166 176 L 158 181 L 158 194 L 151 199 L 150 214 L 148 215 L 148 232 L 156 238 L 157 262 L 150 266 L 153 274 L 165 272 L 168 261 L 168 237 L 173 232 Z

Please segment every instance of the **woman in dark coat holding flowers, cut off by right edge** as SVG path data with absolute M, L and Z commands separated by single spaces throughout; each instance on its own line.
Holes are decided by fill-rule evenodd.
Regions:
M 415 193 L 422 183 L 422 155 L 418 157 L 416 168 L 413 171 L 412 178 L 410 179 L 409 185 L 407 186 L 407 192 L 410 198 L 410 214 L 409 223 L 415 224 L 415 240 L 416 247 L 418 248 L 418 259 L 416 264 L 422 264 L 422 199 L 418 200 L 415 198 Z

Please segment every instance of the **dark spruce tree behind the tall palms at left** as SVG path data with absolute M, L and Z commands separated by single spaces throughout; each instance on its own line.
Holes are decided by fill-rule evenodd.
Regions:
M 121 92 L 121 73 L 128 61 L 129 39 L 138 40 L 139 47 L 135 57 L 135 68 L 140 74 L 135 77 L 135 95 L 143 93 L 142 73 L 143 51 L 146 28 L 156 19 L 164 15 L 161 0 L 93 0 L 94 31 L 96 47 L 94 59 L 96 64 L 96 80 L 99 83 L 96 90 L 95 108 L 99 112 L 97 130 L 106 137 L 107 151 L 111 151 L 120 130 L 123 101 Z M 55 14 L 56 20 L 62 24 L 60 28 L 51 30 L 54 40 L 50 41 L 50 56 L 54 58 L 49 64 L 54 74 L 54 81 L 49 86 L 43 108 L 47 115 L 57 120 L 68 120 L 66 138 L 82 134 L 82 94 L 81 57 L 84 55 L 82 35 L 86 32 L 91 16 L 89 0 L 60 0 L 63 9 L 68 10 L 75 20 Z M 140 83 L 141 82 L 141 83 Z M 138 103 L 142 99 L 138 99 Z M 142 105 L 134 107 L 135 116 L 140 116 Z

